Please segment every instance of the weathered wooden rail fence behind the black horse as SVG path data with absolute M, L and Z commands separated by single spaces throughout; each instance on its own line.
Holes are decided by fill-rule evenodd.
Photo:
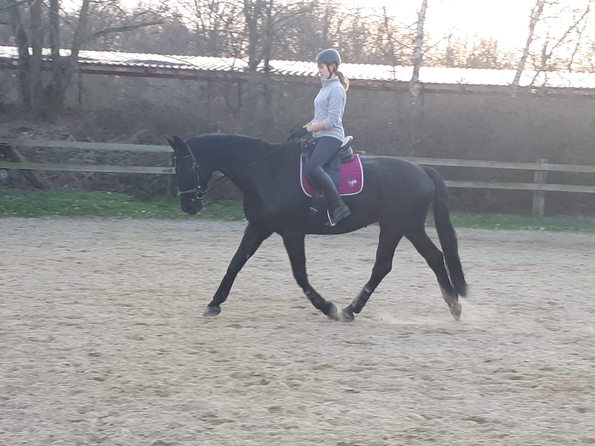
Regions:
M 0 138 L 1 146 L 11 147 L 58 147 L 63 149 L 85 149 L 85 150 L 119 150 L 125 152 L 161 152 L 171 153 L 170 146 L 149 146 L 133 144 L 110 144 L 110 143 L 86 143 L 76 141 L 42 141 L 28 139 L 7 139 Z M 455 181 L 446 180 L 449 187 L 466 187 L 472 189 L 512 189 L 512 190 L 533 190 L 533 215 L 543 216 L 545 192 L 583 192 L 595 193 L 595 186 L 578 186 L 574 184 L 547 184 L 547 172 L 580 172 L 595 174 L 595 166 L 572 165 L 572 164 L 549 164 L 546 159 L 538 159 L 535 163 L 530 162 L 506 162 L 506 161 L 474 161 L 470 159 L 443 159 L 443 158 L 411 158 L 396 157 L 405 161 L 415 162 L 427 166 L 450 166 L 450 167 L 475 167 L 492 169 L 522 169 L 535 171 L 534 183 L 495 183 L 491 181 Z M 115 172 L 129 174 L 174 174 L 172 167 L 137 167 L 137 166 L 107 166 L 107 165 L 85 165 L 85 164 L 54 164 L 54 163 L 31 163 L 31 162 L 3 162 L 0 161 L 0 169 L 26 169 L 26 170 L 56 170 L 56 171 L 80 171 L 80 172 Z

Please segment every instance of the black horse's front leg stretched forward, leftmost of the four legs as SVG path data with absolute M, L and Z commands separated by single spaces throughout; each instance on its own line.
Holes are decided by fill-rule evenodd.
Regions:
M 237 273 L 240 272 L 240 269 L 242 269 L 246 261 L 248 261 L 258 247 L 261 246 L 261 243 L 271 234 L 273 234 L 273 231 L 270 231 L 267 228 L 259 227 L 251 223 L 248 224 L 244 231 L 240 246 L 237 248 L 233 259 L 231 259 L 231 262 L 227 267 L 226 275 L 223 277 L 215 296 L 213 296 L 213 300 L 206 306 L 203 316 L 217 316 L 221 313 L 220 305 L 226 301 Z

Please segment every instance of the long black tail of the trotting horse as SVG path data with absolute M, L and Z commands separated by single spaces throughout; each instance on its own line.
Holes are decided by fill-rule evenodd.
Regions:
M 453 288 L 459 296 L 467 295 L 467 283 L 463 274 L 461 259 L 459 258 L 459 244 L 456 238 L 456 231 L 450 221 L 448 209 L 448 190 L 440 174 L 430 167 L 422 166 L 424 171 L 434 181 L 436 193 L 434 193 L 434 224 L 444 254 L 446 269 L 452 282 Z

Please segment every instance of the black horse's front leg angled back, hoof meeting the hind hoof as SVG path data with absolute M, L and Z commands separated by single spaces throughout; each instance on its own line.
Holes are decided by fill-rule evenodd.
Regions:
M 292 264 L 293 277 L 297 284 L 302 287 L 303 293 L 308 297 L 312 305 L 329 319 L 337 319 L 337 307 L 334 303 L 324 300 L 308 282 L 306 274 L 306 252 L 303 244 L 305 234 L 303 233 L 285 233 L 282 235 L 283 244 L 289 255 L 289 261 Z

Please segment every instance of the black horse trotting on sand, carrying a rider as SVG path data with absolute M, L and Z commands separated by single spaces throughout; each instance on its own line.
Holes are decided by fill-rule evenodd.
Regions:
M 455 229 L 450 222 L 446 185 L 434 169 L 383 156 L 363 156 L 365 185 L 361 193 L 345 196 L 352 215 L 338 225 L 325 225 L 325 212 L 313 213 L 313 198 L 300 186 L 299 143 L 270 144 L 261 139 L 228 134 L 205 134 L 185 142 L 167 139 L 174 149 L 181 209 L 194 215 L 214 171 L 230 178 L 242 191 L 248 226 L 205 316 L 216 316 L 236 275 L 262 241 L 277 233 L 283 238 L 293 275 L 317 309 L 331 319 L 352 321 L 392 268 L 394 250 L 404 236 L 436 274 L 450 313 L 458 320 L 466 282 Z M 433 205 L 434 221 L 443 253 L 425 233 L 425 218 Z M 372 223 L 380 225 L 380 240 L 372 275 L 341 313 L 312 288 L 306 275 L 306 234 L 345 234 Z M 446 266 L 444 265 L 446 260 Z

